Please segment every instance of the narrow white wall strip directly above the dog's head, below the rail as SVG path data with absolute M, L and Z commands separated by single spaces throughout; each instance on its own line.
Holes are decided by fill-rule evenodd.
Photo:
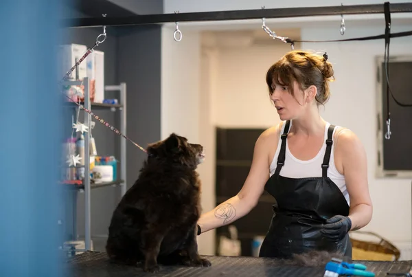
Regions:
M 200 47 L 198 32 L 173 39 L 173 29 L 163 27 L 161 49 L 161 137 L 175 132 L 198 141 Z

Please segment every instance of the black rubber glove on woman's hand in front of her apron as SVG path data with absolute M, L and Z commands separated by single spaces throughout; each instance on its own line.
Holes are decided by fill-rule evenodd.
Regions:
M 326 221 L 321 233 L 332 241 L 341 241 L 350 231 L 350 228 L 352 228 L 352 221 L 349 217 L 335 215 Z

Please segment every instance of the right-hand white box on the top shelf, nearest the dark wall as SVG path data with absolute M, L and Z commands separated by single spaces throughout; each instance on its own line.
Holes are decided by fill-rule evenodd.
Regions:
M 90 79 L 90 95 L 93 102 L 104 100 L 104 52 L 95 50 L 87 56 L 87 77 Z

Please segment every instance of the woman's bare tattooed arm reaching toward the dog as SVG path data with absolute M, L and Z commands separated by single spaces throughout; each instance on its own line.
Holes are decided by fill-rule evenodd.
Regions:
M 272 137 L 273 132 L 276 133 L 275 130 L 268 129 L 256 140 L 251 169 L 238 195 L 201 215 L 198 225 L 202 233 L 232 223 L 244 217 L 256 206 L 269 177 L 267 145 L 268 137 Z

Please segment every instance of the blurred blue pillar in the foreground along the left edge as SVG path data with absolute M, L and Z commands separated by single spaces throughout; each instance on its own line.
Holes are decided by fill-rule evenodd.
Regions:
M 56 82 L 62 1 L 0 5 L 0 276 L 63 275 Z

